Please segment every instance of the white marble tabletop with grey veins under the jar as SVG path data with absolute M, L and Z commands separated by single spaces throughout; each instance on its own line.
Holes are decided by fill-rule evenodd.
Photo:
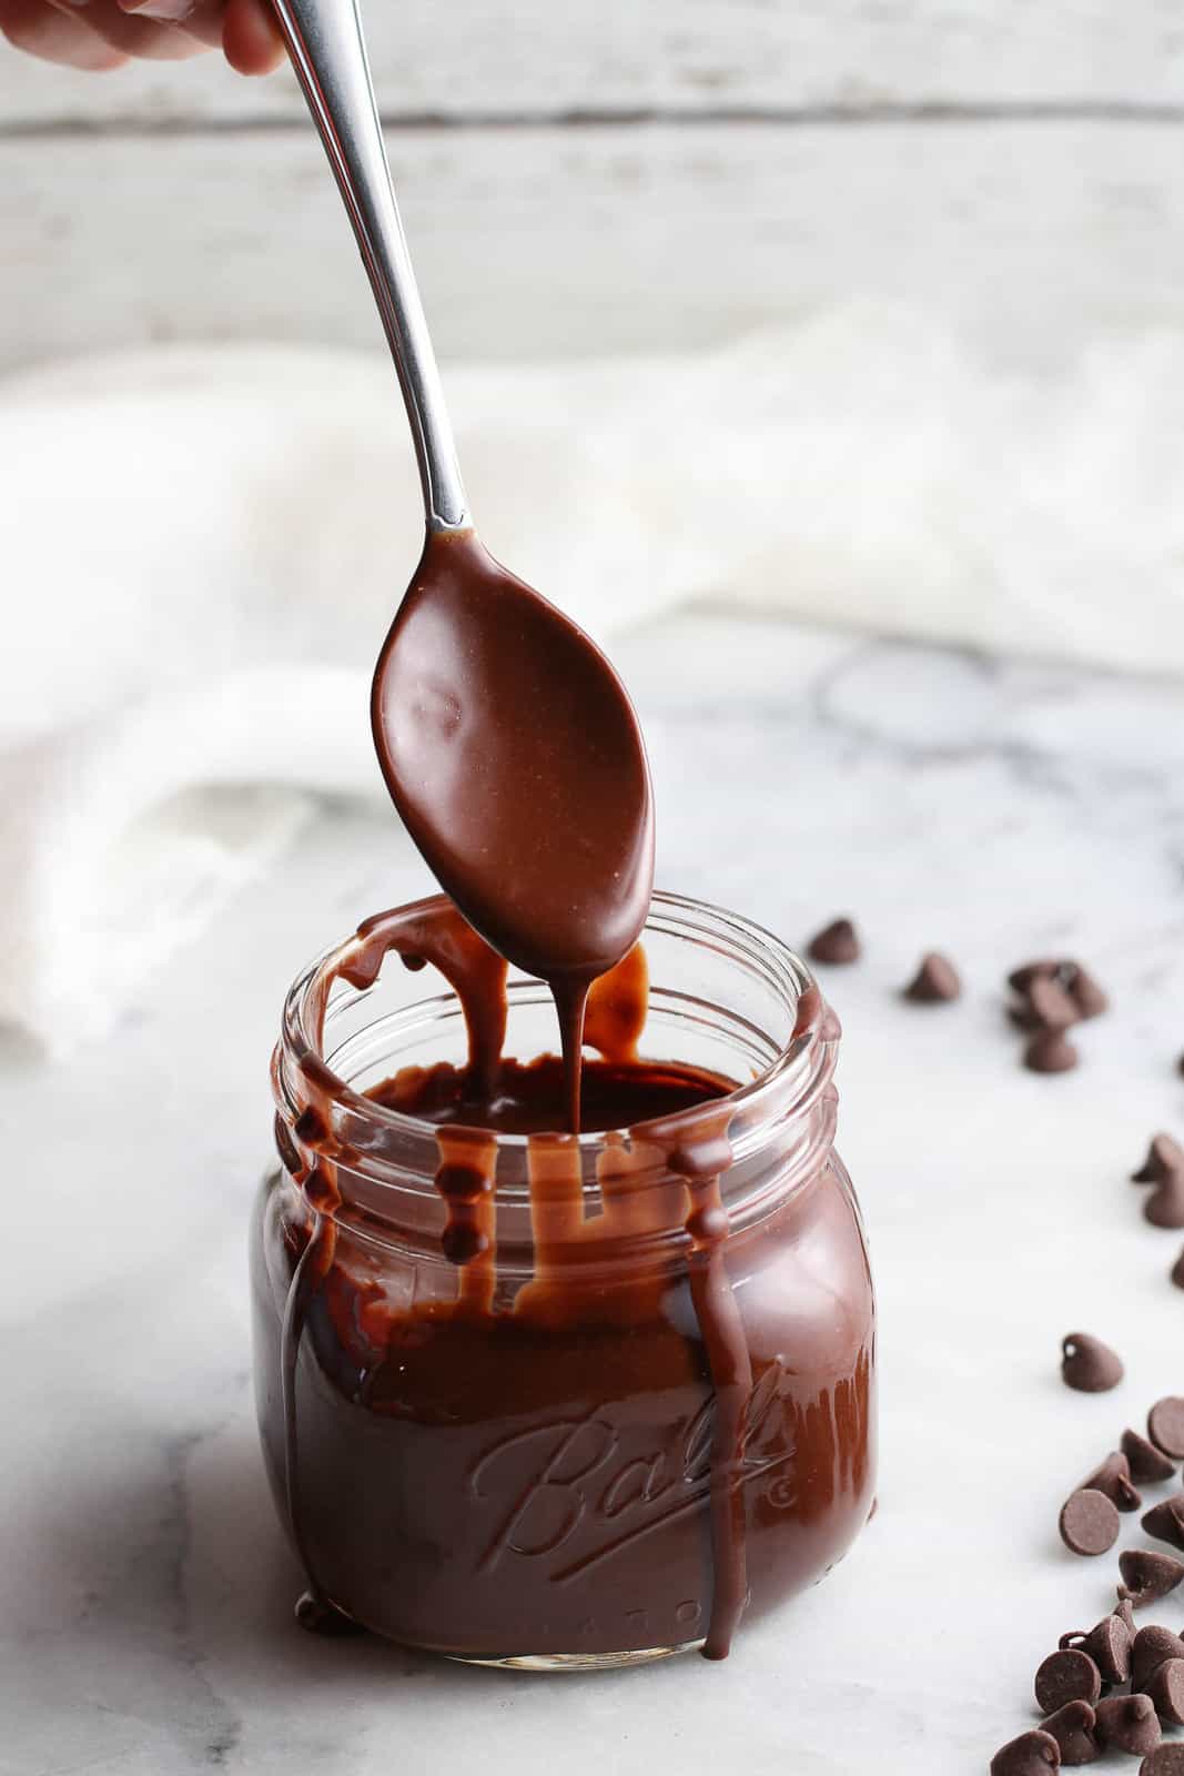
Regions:
M 266 1058 L 296 966 L 422 886 L 376 810 L 327 808 L 114 1039 L 4 1051 L 4 1776 L 950 1776 L 1033 1724 L 1035 1664 L 1108 1607 L 1113 1558 L 1072 1559 L 1054 1522 L 1184 1389 L 1182 1236 L 1125 1181 L 1152 1128 L 1184 1133 L 1184 696 L 706 616 L 618 654 L 664 884 L 866 932 L 825 984 L 882 1307 L 877 1520 L 721 1668 L 481 1673 L 291 1625 L 247 1348 Z M 962 1003 L 898 1002 L 927 945 Z M 999 1009 L 1047 948 L 1115 998 L 1063 1078 L 1021 1071 Z M 1077 1327 L 1127 1357 L 1118 1392 L 1062 1389 Z

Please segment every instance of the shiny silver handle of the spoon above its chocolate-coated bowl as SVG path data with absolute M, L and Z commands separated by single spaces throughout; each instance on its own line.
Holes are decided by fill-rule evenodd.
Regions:
M 469 503 L 391 185 L 359 0 L 273 0 L 273 5 L 391 343 L 415 442 L 428 529 L 465 529 Z

